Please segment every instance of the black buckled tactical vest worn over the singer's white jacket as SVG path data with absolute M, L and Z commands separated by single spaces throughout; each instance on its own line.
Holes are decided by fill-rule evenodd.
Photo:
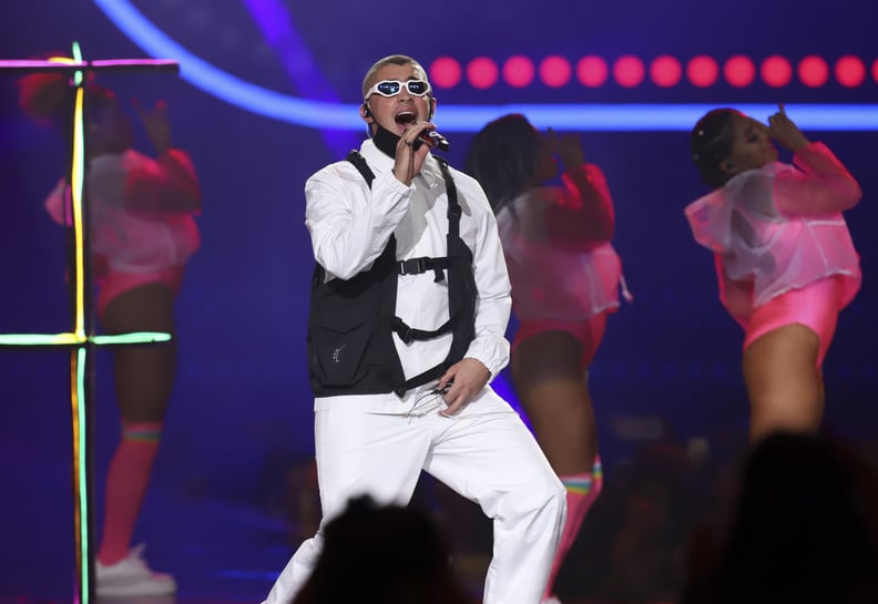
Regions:
M 316 265 L 314 268 L 308 317 L 308 371 L 317 397 L 388 392 L 402 397 L 411 388 L 439 379 L 463 358 L 474 337 L 477 290 L 472 252 L 460 238 L 461 208 L 448 164 L 440 157 L 435 158 L 439 162 L 448 193 L 446 257 L 397 260 L 396 238 L 391 235 L 372 267 L 350 279 L 324 283 L 323 267 Z M 371 186 L 375 175 L 366 160 L 357 151 L 351 151 L 347 161 Z M 427 272 L 433 272 L 437 281 L 448 279 L 449 305 L 449 320 L 429 331 L 412 328 L 396 316 L 398 277 Z M 395 331 L 406 344 L 451 332 L 448 357 L 407 380 L 394 346 Z

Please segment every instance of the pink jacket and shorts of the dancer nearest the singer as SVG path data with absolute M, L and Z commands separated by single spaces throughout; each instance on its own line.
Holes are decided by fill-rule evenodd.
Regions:
M 593 198 L 582 198 L 578 178 L 590 181 Z M 588 367 L 606 314 L 619 308 L 622 262 L 610 244 L 613 201 L 601 168 L 585 164 L 562 180 L 564 186 L 528 191 L 497 216 L 520 321 L 512 347 L 547 330 L 569 331 Z

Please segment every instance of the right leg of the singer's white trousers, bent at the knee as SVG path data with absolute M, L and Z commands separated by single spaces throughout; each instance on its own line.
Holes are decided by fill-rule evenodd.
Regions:
M 423 469 L 493 520 L 484 604 L 540 604 L 564 525 L 566 492 L 511 411 L 486 389 L 459 417 L 435 417 Z

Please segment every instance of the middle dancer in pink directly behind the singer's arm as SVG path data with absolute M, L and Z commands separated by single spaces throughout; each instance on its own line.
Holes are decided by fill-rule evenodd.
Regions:
M 563 186 L 544 183 L 564 173 Z M 545 457 L 568 492 L 568 515 L 543 601 L 603 485 L 589 367 L 619 308 L 622 263 L 610 244 L 613 202 L 575 135 L 538 132 L 504 115 L 476 136 L 467 171 L 491 202 L 519 329 L 512 380 Z

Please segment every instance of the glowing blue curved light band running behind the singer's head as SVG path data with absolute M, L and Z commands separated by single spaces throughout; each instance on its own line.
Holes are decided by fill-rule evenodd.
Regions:
M 282 94 L 232 75 L 196 57 L 146 19 L 130 0 L 94 3 L 134 43 L 152 57 L 176 57 L 191 84 L 245 111 L 315 129 L 363 130 L 358 104 L 308 101 Z M 715 106 L 698 104 L 494 104 L 440 108 L 443 132 L 476 132 L 510 112 L 524 113 L 538 126 L 575 131 L 688 131 Z M 734 105 L 763 119 L 774 105 Z M 811 131 L 878 131 L 878 104 L 789 104 L 796 123 Z

